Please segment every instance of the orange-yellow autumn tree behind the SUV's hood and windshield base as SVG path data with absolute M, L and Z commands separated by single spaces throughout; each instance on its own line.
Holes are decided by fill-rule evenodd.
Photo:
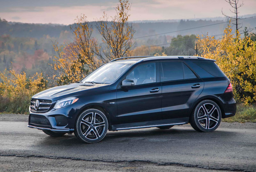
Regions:
M 54 43 L 57 52 L 55 63 L 52 64 L 58 84 L 77 82 L 89 71 L 96 69 L 105 59 L 98 57 L 100 47 L 97 40 L 92 37 L 92 25 L 85 15 L 76 18 L 73 31 L 73 42 L 58 46 Z

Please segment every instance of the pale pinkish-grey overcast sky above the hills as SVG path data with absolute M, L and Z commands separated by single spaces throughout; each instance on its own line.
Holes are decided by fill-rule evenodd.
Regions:
M 240 0 L 242 2 L 242 0 Z M 115 15 L 118 0 L 0 0 L 0 18 L 24 23 L 71 24 L 81 13 L 89 21 Z M 221 8 L 229 12 L 224 0 L 130 0 L 134 20 L 169 20 L 220 17 Z M 256 13 L 256 0 L 244 0 L 240 15 Z

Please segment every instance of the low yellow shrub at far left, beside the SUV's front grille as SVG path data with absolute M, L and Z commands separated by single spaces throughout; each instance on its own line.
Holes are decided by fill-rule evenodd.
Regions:
M 46 87 L 43 74 L 28 77 L 25 72 L 16 74 L 14 70 L 0 73 L 0 112 L 26 113 L 31 97 Z

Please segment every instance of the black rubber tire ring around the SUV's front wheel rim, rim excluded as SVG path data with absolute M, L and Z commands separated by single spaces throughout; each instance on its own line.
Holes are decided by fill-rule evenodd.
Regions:
M 84 115 L 86 115 L 87 113 L 91 113 L 91 112 L 99 113 L 105 121 L 105 129 L 104 129 L 103 134 L 101 135 L 101 137 L 99 137 L 95 140 L 90 140 L 90 139 L 87 139 L 86 137 L 84 137 L 84 135 L 81 131 L 81 128 L 80 128 L 80 123 L 81 123 L 82 118 L 84 117 Z M 78 115 L 77 120 L 76 120 L 76 124 L 75 124 L 75 132 L 76 132 L 76 137 L 78 137 L 80 140 L 82 140 L 86 143 L 97 143 L 106 136 L 107 131 L 108 131 L 108 119 L 107 119 L 106 115 L 103 112 L 101 112 L 100 110 L 98 110 L 98 109 L 87 109 L 87 110 L 84 110 L 82 113 L 80 113 L 80 115 Z

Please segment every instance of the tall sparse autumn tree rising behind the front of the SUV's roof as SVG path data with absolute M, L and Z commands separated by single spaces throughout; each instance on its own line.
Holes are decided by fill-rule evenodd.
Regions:
M 105 43 L 105 49 L 102 52 L 108 61 L 130 55 L 133 46 L 132 38 L 135 33 L 132 24 L 128 23 L 130 8 L 128 0 L 119 0 L 116 15 L 111 17 L 111 21 L 108 21 L 105 12 L 103 17 L 97 21 L 96 27 Z

